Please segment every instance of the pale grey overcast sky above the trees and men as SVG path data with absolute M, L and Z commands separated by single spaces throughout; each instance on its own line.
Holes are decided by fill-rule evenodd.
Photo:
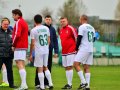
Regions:
M 31 19 L 35 14 L 41 12 L 45 7 L 53 11 L 57 17 L 58 8 L 62 7 L 67 0 L 2 0 L 5 1 L 5 8 L 0 8 L 0 14 L 12 18 L 11 11 L 20 8 L 25 19 Z M 83 0 L 87 8 L 87 15 L 99 16 L 101 19 L 114 19 L 114 12 L 118 0 Z M 1 5 L 1 4 L 0 4 Z M 20 5 L 20 7 L 19 7 Z

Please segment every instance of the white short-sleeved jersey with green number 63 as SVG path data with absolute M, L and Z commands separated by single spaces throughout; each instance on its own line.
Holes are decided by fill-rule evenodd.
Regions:
M 43 25 L 36 26 L 31 30 L 31 39 L 35 39 L 35 54 L 48 54 L 49 28 Z

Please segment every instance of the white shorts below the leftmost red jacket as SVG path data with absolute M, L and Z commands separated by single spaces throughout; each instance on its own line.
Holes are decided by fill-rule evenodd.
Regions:
M 14 60 L 26 60 L 26 50 L 15 50 Z

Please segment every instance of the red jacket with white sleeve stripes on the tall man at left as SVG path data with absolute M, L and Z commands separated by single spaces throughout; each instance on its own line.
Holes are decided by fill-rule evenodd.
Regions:
M 28 25 L 22 17 L 15 23 L 12 39 L 13 47 L 17 49 L 28 48 Z

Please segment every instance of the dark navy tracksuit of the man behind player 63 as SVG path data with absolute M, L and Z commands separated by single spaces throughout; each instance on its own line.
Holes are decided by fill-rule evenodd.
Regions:
M 51 72 L 51 67 L 52 67 L 52 56 L 53 56 L 53 49 L 54 49 L 54 53 L 58 54 L 58 40 L 57 40 L 57 35 L 56 35 L 56 31 L 55 31 L 55 28 L 50 25 L 46 25 L 44 24 L 45 26 L 47 26 L 50 30 L 50 45 L 49 45 L 49 57 L 48 57 L 48 69 L 49 71 Z M 44 83 L 45 85 L 48 85 L 48 80 L 47 78 L 45 77 L 44 79 Z M 40 85 L 40 82 L 39 82 L 39 79 L 38 79 L 38 72 L 37 72 L 37 69 L 36 69 L 36 76 L 35 76 L 35 86 L 36 85 Z

